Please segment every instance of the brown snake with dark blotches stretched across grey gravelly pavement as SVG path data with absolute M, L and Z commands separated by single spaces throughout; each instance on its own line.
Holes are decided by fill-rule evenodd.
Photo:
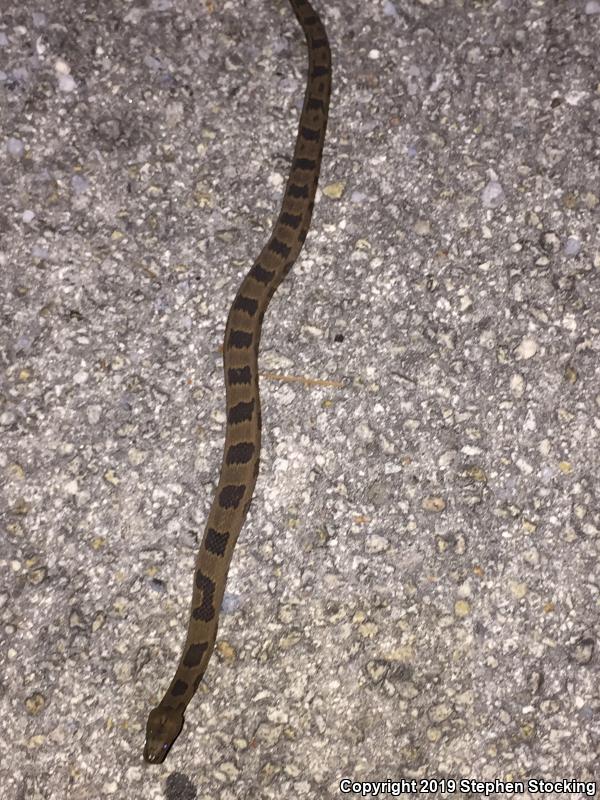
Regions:
M 146 724 L 144 759 L 164 761 L 181 733 L 185 710 L 212 655 L 227 573 L 258 477 L 261 410 L 258 351 L 263 317 L 298 258 L 319 181 L 329 97 L 327 33 L 308 0 L 289 0 L 308 45 L 308 76 L 298 133 L 279 216 L 245 275 L 227 316 L 223 342 L 226 429 L 219 482 L 196 556 L 187 634 L 169 688 Z

